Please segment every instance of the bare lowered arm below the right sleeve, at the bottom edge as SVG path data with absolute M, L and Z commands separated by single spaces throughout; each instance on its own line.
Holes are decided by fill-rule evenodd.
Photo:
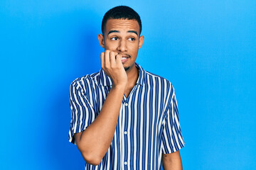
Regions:
M 179 151 L 171 154 L 163 154 L 162 162 L 164 170 L 182 170 L 181 154 Z

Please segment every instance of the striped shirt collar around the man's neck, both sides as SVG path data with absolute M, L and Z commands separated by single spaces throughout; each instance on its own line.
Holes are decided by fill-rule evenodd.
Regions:
M 144 78 L 145 78 L 145 70 L 135 62 L 136 67 L 139 69 L 139 78 L 137 80 L 137 84 L 140 85 L 144 85 Z M 100 69 L 100 84 L 102 84 L 102 86 L 112 86 L 112 80 L 110 79 L 110 77 L 107 76 L 107 74 L 105 74 L 105 72 L 103 71 L 103 69 Z

